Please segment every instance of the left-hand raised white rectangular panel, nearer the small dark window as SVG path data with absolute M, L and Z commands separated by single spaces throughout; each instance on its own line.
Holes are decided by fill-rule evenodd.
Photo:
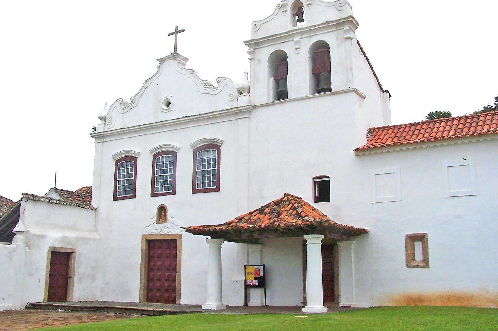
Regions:
M 401 201 L 399 167 L 372 170 L 372 203 Z

